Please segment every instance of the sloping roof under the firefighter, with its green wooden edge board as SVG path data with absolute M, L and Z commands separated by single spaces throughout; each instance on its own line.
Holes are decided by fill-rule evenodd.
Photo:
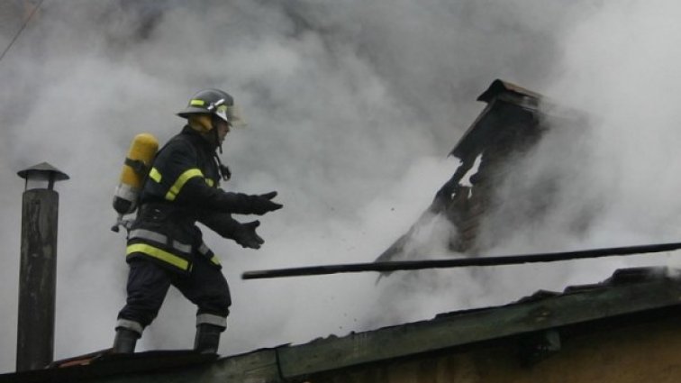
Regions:
M 567 287 L 562 292 L 538 291 L 508 305 L 440 314 L 426 321 L 282 345 L 170 372 L 148 372 L 144 381 L 280 382 L 367 363 L 468 347 L 523 333 L 681 307 L 680 295 L 678 270 L 619 269 L 611 278 L 593 285 Z M 71 373 L 70 378 L 77 376 L 79 381 L 97 381 L 105 367 L 92 364 L 68 369 L 86 368 L 89 372 Z M 143 372 L 139 366 L 135 371 Z M 0 375 L 0 382 L 48 381 L 25 379 L 34 372 Z M 132 372 L 125 369 L 110 371 L 114 376 L 107 377 L 106 381 L 129 381 Z M 43 377 L 47 374 L 50 370 L 43 370 Z M 52 372 L 49 381 L 68 381 L 59 376 Z

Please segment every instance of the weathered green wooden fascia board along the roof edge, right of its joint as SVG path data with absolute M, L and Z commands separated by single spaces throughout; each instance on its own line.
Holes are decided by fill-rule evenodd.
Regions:
M 679 305 L 681 280 L 653 278 L 488 307 L 277 348 L 283 378 L 390 360 L 568 324 Z M 453 313 L 454 314 L 454 313 Z M 504 324 L 504 325 L 499 325 Z

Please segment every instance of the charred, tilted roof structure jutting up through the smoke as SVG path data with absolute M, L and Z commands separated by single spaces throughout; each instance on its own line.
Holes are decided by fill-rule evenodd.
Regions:
M 380 254 L 377 262 L 412 259 L 414 254 L 405 253 L 404 245 L 437 214 L 444 214 L 456 229 L 450 236 L 450 250 L 469 255 L 485 251 L 493 243 L 477 241 L 480 224 L 498 205 L 495 192 L 513 174 L 513 167 L 549 129 L 586 127 L 584 114 L 501 79 L 495 79 L 477 100 L 485 102 L 485 108 L 449 152 L 460 160 L 459 167 L 411 229 Z M 543 207 L 537 204 L 538 210 Z

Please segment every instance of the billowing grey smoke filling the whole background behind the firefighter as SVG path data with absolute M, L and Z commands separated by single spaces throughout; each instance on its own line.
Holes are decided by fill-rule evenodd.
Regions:
M 21 2 L 0 6 L 0 48 Z M 674 254 L 488 269 L 241 280 L 241 272 L 376 259 L 430 205 L 459 161 L 447 154 L 495 78 L 593 116 L 551 131 L 500 186 L 537 193 L 490 253 L 675 242 L 681 224 L 676 89 L 681 36 L 673 1 L 405 0 L 319 2 L 46 0 L 0 60 L 0 371 L 14 369 L 23 180 L 42 161 L 70 176 L 59 191 L 55 358 L 110 347 L 127 266 L 111 206 L 132 137 L 167 141 L 175 113 L 204 87 L 241 105 L 222 160 L 227 190 L 277 190 L 259 251 L 206 233 L 232 289 L 220 353 L 499 305 L 539 289 L 595 283 L 614 269 L 673 265 Z M 586 213 L 590 224 L 572 223 Z M 252 218 L 242 217 L 244 221 Z M 518 220 L 522 225 L 516 226 Z M 517 229 L 520 227 L 520 229 Z M 423 258 L 444 255 L 447 223 L 422 228 Z M 491 232 L 490 232 L 491 233 Z M 483 233 L 488 235 L 489 233 Z M 195 307 L 171 289 L 138 350 L 191 347 Z

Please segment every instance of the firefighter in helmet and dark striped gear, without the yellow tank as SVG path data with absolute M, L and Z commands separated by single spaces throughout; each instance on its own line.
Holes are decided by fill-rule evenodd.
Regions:
M 186 125 L 157 153 L 139 196 L 128 233 L 126 305 L 118 314 L 113 352 L 130 353 L 172 285 L 197 306 L 195 350 L 216 352 L 232 303 L 220 261 L 203 242 L 196 222 L 244 248 L 259 249 L 259 221 L 240 223 L 232 214 L 266 214 L 282 205 L 262 195 L 219 187 L 229 178 L 217 150 L 232 126 L 243 124 L 232 96 L 206 89 L 178 113 Z

